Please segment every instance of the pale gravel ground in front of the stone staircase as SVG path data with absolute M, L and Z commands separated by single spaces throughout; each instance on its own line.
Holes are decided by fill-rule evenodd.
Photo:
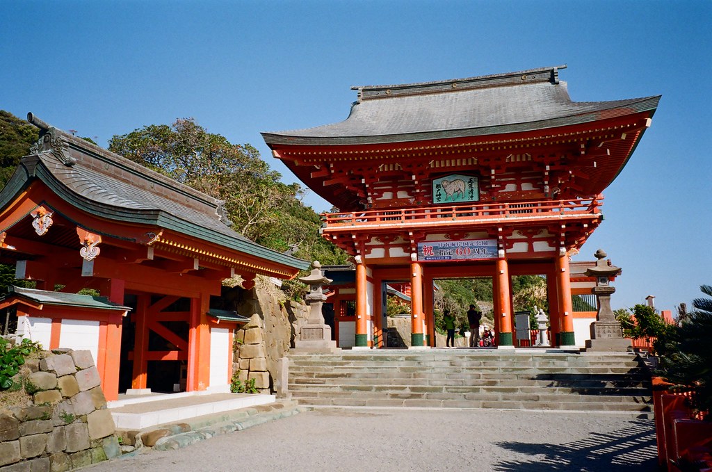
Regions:
M 318 409 L 83 469 L 114 471 L 655 471 L 654 424 L 620 414 Z

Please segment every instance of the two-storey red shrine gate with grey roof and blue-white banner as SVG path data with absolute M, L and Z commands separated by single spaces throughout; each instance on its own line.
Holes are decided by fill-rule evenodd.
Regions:
M 357 87 L 343 122 L 263 133 L 340 210 L 322 231 L 354 257 L 356 347 L 382 329 L 382 281 L 411 283 L 416 347 L 434 342 L 432 280 L 476 276 L 493 279 L 498 345 L 513 345 L 510 280 L 523 274 L 547 276 L 553 333 L 576 344 L 570 256 L 659 96 L 572 102 L 559 69 Z

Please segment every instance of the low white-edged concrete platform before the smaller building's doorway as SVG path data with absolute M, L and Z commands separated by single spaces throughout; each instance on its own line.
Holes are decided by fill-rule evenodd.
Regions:
M 275 401 L 276 396 L 269 394 L 183 392 L 121 396 L 108 408 L 117 429 L 138 430 Z

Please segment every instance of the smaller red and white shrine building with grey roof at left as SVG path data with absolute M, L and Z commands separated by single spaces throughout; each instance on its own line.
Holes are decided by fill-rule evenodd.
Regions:
M 0 263 L 35 283 L 0 300 L 18 334 L 90 350 L 109 400 L 152 386 L 229 391 L 246 318 L 216 309 L 222 280 L 250 289 L 309 263 L 230 229 L 224 202 L 28 121 L 40 139 L 0 192 Z

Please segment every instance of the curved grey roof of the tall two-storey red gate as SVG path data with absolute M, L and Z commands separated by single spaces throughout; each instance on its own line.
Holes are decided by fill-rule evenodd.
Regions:
M 364 145 L 493 135 L 654 110 L 659 100 L 572 102 L 566 83 L 558 80 L 559 68 L 355 87 L 358 100 L 346 120 L 262 135 L 268 145 Z

